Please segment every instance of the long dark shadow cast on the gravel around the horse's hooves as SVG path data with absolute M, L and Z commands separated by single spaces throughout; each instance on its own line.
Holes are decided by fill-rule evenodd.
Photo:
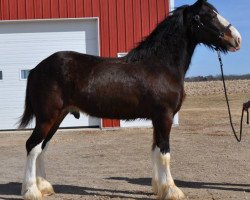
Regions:
M 129 184 L 150 186 L 150 178 L 127 178 L 127 177 L 110 177 L 108 180 L 115 181 L 126 181 Z M 234 183 L 211 183 L 211 182 L 196 182 L 196 181 L 182 181 L 175 180 L 177 186 L 181 188 L 193 188 L 193 189 L 214 189 L 214 190 L 225 190 L 225 191 L 237 191 L 237 192 L 247 192 L 250 193 L 250 184 L 234 184 Z M 152 195 L 151 192 L 142 191 L 128 191 L 128 190 L 111 190 L 102 188 L 91 188 L 91 187 L 81 187 L 75 185 L 53 185 L 54 190 L 58 194 L 74 194 L 82 196 L 103 196 L 110 198 L 128 198 L 128 195 L 138 196 L 138 195 Z M 6 184 L 0 184 L 0 195 L 6 196 L 16 196 L 21 193 L 21 183 L 11 182 Z M 8 200 L 13 198 L 3 198 Z M 130 196 L 131 198 L 131 196 Z M 19 200 L 21 198 L 14 198 L 14 200 Z M 150 200 L 149 197 L 134 197 L 137 200 Z

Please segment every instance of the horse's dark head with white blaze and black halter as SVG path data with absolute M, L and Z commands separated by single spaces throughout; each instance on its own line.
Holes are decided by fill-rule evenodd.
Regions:
M 189 7 L 192 32 L 198 43 L 214 46 L 221 51 L 238 51 L 241 35 L 217 9 L 206 0 L 198 0 Z

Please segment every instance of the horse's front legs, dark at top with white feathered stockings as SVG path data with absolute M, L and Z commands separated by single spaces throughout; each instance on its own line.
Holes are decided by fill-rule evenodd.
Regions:
M 152 187 L 160 200 L 184 199 L 185 195 L 175 185 L 170 172 L 169 136 L 173 115 L 164 113 L 153 119 L 154 143 L 152 149 Z

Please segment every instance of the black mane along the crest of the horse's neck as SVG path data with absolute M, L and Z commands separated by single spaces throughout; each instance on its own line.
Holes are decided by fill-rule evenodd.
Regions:
M 178 33 L 183 32 L 183 15 L 184 10 L 189 7 L 188 5 L 181 6 L 172 11 L 170 15 L 158 24 L 153 32 L 143 39 L 134 49 L 132 49 L 124 59 L 127 62 L 137 62 L 141 59 L 156 55 L 159 47 L 171 38 L 178 37 Z M 175 35 L 175 37 L 173 37 Z M 167 42 L 168 46 L 171 44 Z

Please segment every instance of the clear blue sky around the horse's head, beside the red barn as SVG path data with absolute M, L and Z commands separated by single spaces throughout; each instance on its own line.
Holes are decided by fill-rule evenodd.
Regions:
M 174 0 L 175 7 L 192 5 L 196 0 Z M 225 75 L 250 74 L 250 0 L 208 0 L 242 36 L 241 50 L 223 54 Z M 196 48 L 186 77 L 220 75 L 217 53 L 204 45 Z

